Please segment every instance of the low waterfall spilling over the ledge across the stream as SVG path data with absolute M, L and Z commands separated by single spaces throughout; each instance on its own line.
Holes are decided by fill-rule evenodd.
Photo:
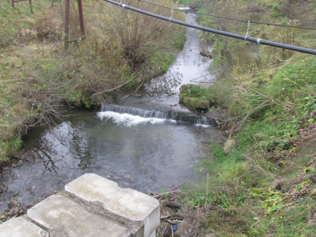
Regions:
M 142 110 L 139 108 L 126 107 L 120 105 L 103 105 L 101 108 L 102 112 L 114 112 L 118 114 L 127 114 L 131 116 L 139 116 L 142 118 L 159 118 L 159 119 L 170 119 L 175 121 L 189 122 L 197 125 L 214 125 L 214 119 L 209 119 L 205 116 L 198 114 L 188 114 L 184 112 L 161 112 L 156 110 Z

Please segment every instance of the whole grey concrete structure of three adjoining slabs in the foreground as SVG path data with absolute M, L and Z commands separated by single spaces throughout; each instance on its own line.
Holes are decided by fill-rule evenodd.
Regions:
M 155 237 L 156 198 L 96 174 L 84 174 L 0 225 L 0 237 Z

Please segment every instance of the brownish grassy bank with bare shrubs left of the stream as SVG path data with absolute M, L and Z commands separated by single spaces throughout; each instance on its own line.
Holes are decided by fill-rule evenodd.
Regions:
M 33 2 L 34 14 L 27 1 L 15 8 L 10 0 L 0 2 L 0 165 L 21 148 L 29 129 L 62 118 L 69 107 L 109 102 L 118 90 L 165 72 L 184 43 L 184 28 L 102 0 L 82 2 L 85 38 L 67 50 L 59 1 Z M 140 2 L 133 6 L 165 14 Z M 72 5 L 69 32 L 69 39 L 81 35 Z

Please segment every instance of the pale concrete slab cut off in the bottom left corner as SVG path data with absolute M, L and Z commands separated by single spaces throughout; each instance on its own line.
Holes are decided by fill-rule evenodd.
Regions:
M 0 237 L 49 237 L 49 234 L 26 218 L 17 217 L 0 225 Z

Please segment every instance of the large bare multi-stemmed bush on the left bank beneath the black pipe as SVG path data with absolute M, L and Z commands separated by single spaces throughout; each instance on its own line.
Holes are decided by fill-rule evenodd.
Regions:
M 170 10 L 144 5 L 141 2 L 127 1 L 137 8 L 149 10 L 160 15 L 170 16 Z M 158 2 L 159 3 L 159 2 Z M 171 5 L 171 1 L 164 0 L 162 5 Z M 112 40 L 118 42 L 122 48 L 122 55 L 132 68 L 139 68 L 149 61 L 150 57 L 166 46 L 166 42 L 173 36 L 177 26 L 170 22 L 158 20 L 128 9 L 117 6 L 107 7 L 104 29 Z

